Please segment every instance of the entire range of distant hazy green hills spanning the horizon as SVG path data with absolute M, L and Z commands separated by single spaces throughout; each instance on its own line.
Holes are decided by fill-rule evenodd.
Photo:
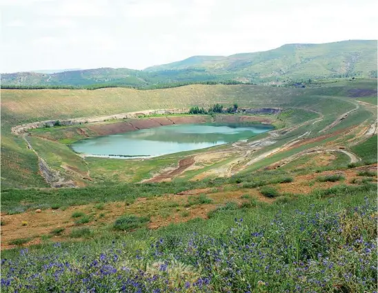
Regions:
M 232 80 L 269 83 L 334 77 L 377 78 L 377 41 L 288 44 L 274 50 L 194 56 L 145 70 L 97 68 L 1 74 L 2 85 L 129 85 Z

